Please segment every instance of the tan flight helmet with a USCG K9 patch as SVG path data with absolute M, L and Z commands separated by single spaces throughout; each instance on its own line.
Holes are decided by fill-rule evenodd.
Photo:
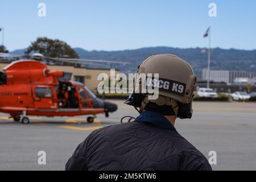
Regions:
M 146 75 L 151 73 L 153 76 L 154 73 L 159 74 L 158 99 L 148 100 L 146 97 L 141 103 L 140 111 L 144 110 L 148 102 L 154 102 L 159 106 L 172 106 L 177 116 L 179 107 L 176 101 L 181 104 L 191 103 L 196 86 L 196 76 L 187 61 L 170 54 L 154 55 L 143 61 L 137 73 Z

